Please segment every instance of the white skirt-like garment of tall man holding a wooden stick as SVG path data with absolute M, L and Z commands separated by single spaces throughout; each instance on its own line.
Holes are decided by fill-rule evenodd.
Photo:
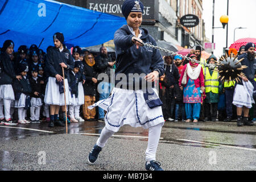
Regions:
M 65 96 L 66 104 L 69 105 L 72 98 L 69 91 L 68 79 L 65 79 Z M 46 85 L 46 94 L 44 96 L 44 103 L 47 105 L 65 105 L 64 93 L 60 93 L 59 85 L 56 83 L 55 77 L 49 77 Z

